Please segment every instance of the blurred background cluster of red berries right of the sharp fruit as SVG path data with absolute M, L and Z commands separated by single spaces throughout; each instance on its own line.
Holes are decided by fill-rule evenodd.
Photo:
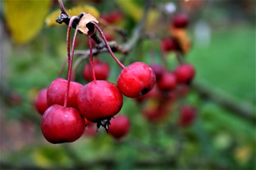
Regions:
M 170 71 L 166 65 L 152 63 L 150 67 L 156 75 L 156 86 L 148 94 L 136 99 L 139 104 L 144 104 L 142 112 L 150 122 L 166 120 L 167 113 L 172 112 L 175 101 L 179 101 L 177 103 L 180 104 L 181 98 L 188 93 L 191 81 L 195 76 L 195 68 L 190 63 L 183 62 L 183 56 L 187 49 L 183 48 L 184 37 L 180 36 L 180 32 L 184 32 L 188 23 L 187 16 L 183 14 L 174 16 L 170 25 L 171 37 L 164 37 L 160 42 L 160 48 L 163 55 L 166 53 L 176 54 L 178 65 Z M 166 62 L 166 57 L 166 55 L 163 56 L 163 62 Z M 195 120 L 196 109 L 190 105 L 181 104 L 179 113 L 180 126 L 188 126 Z

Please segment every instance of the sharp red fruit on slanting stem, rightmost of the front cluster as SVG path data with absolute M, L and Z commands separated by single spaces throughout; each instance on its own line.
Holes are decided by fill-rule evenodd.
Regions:
M 152 90 L 155 81 L 155 73 L 150 66 L 134 62 L 121 71 L 117 87 L 127 97 L 139 97 Z

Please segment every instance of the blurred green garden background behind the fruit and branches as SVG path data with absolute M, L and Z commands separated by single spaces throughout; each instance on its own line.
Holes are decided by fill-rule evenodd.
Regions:
M 127 12 L 129 9 L 125 8 L 130 6 L 126 3 L 143 10 L 144 1 L 123 1 L 123 5 L 121 2 L 80 0 L 64 1 L 64 5 L 94 6 L 101 15 L 121 10 L 123 20 L 114 27 L 125 29 L 129 39 L 138 22 L 130 13 L 139 14 Z M 247 109 L 251 116 L 243 117 L 221 107 L 192 88 L 182 101 L 177 101 L 165 121 L 151 124 L 142 116 L 144 106 L 124 97 L 121 114 L 130 118 L 131 130 L 122 141 L 115 141 L 101 128 L 94 136 L 85 134 L 76 142 L 52 145 L 41 133 L 41 116 L 36 112 L 34 100 L 57 77 L 67 56 L 67 26 L 48 28 L 44 24 L 46 16 L 59 8 L 57 1 L 49 1 L 45 10 L 34 6 L 32 12 L 43 15 L 42 28 L 38 28 L 30 41 L 17 43 L 8 24 L 10 17 L 6 15 L 18 9 L 6 11 L 6 6 L 1 5 L 1 169 L 255 169 L 255 1 L 152 3 L 156 9 L 167 9 L 170 16 L 189 14 L 187 32 L 192 48 L 185 61 L 196 68 L 194 82 Z M 26 17 L 25 14 L 20 12 L 20 18 Z M 17 20 L 16 29 L 22 24 L 25 32 L 20 36 L 32 32 L 32 25 L 11 19 L 13 23 Z M 168 27 L 170 22 L 161 24 L 160 27 Z M 155 29 L 147 27 L 147 32 Z M 76 49 L 88 49 L 86 37 L 79 35 L 78 39 L 80 45 Z M 121 36 L 115 35 L 115 39 L 123 43 Z M 152 46 L 154 53 L 150 50 Z M 142 40 L 131 50 L 124 65 L 133 61 L 150 64 L 152 55 L 160 62 L 160 54 L 158 41 Z M 121 69 L 108 53 L 98 57 L 111 65 L 109 81 L 116 83 Z M 173 69 L 174 54 L 167 57 Z M 76 81 L 85 84 L 82 65 Z M 67 70 L 63 78 L 66 73 Z M 195 123 L 188 128 L 176 126 L 180 103 L 193 105 L 198 111 Z

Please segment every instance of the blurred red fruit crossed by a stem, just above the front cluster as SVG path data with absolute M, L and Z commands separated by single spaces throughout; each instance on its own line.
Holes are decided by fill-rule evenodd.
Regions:
M 94 71 L 97 80 L 106 80 L 109 77 L 110 67 L 108 63 L 100 61 L 99 59 L 94 59 Z M 92 69 L 90 63 L 84 65 L 82 70 L 82 75 L 85 80 L 92 81 Z

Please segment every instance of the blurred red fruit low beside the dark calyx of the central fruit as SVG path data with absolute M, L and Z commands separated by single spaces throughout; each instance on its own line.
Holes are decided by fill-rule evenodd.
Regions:
M 129 118 L 125 115 L 118 115 L 110 120 L 109 134 L 115 139 L 125 137 L 130 130 Z

